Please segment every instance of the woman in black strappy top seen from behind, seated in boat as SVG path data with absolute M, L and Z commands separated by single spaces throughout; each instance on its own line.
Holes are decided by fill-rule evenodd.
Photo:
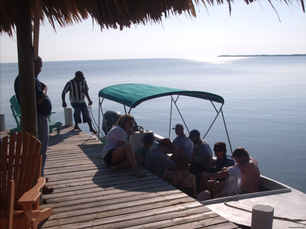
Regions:
M 179 154 L 174 159 L 177 169 L 168 171 L 163 179 L 192 198 L 197 197 L 196 177 L 188 173 L 190 159 L 185 154 Z

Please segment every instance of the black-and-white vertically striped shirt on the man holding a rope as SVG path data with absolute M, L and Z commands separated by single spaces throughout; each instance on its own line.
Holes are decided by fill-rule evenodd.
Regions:
M 88 90 L 89 89 L 87 83 L 84 79 L 81 80 L 79 83 L 76 83 L 76 81 L 72 79 L 66 83 L 63 93 L 67 93 L 69 91 L 70 103 L 73 102 L 84 103 L 85 102 L 84 91 Z

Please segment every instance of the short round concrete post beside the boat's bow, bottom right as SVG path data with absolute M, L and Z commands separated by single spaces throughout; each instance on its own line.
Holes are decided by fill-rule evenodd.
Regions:
M 251 229 L 272 229 L 274 208 L 268 205 L 254 205 Z

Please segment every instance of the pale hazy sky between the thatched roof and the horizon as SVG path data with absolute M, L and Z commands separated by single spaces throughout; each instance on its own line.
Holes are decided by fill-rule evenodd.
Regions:
M 260 4 L 259 4 L 260 3 Z M 306 14 L 300 3 L 289 7 L 272 0 L 247 5 L 243 0 L 228 5 L 196 9 L 189 15 L 163 18 L 162 24 L 148 24 L 103 30 L 92 20 L 72 27 L 40 27 L 39 56 L 43 61 L 102 60 L 134 58 L 202 58 L 223 54 L 305 54 Z M 17 62 L 17 43 L 0 37 L 0 62 Z

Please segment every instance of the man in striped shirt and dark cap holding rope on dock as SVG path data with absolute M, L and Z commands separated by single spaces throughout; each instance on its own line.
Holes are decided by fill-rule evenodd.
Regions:
M 89 89 L 85 81 L 83 72 L 77 71 L 75 73 L 75 77 L 66 83 L 65 88 L 63 90 L 62 93 L 63 107 L 67 107 L 67 104 L 65 102 L 65 95 L 69 91 L 69 100 L 71 106 L 74 109 L 73 113 L 73 118 L 75 122 L 74 129 L 80 129 L 78 123 L 82 123 L 81 120 L 81 113 L 82 113 L 83 123 L 87 122 L 89 126 L 89 131 L 91 131 L 94 134 L 97 134 L 97 132 L 92 128 L 89 111 L 85 103 L 85 96 L 86 96 L 86 98 L 88 99 L 88 105 L 92 104 L 92 101 L 90 100 L 88 95 L 88 90 Z

